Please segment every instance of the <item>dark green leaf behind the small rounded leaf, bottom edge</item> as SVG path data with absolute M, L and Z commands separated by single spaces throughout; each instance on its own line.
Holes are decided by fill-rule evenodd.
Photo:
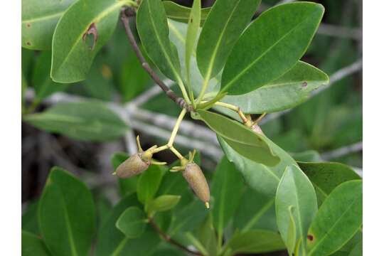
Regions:
M 97 236 L 96 256 L 147 256 L 156 250 L 161 240 L 149 225 L 147 225 L 142 236 L 135 239 L 127 238 L 124 233 L 116 228 L 117 219 L 130 206 L 141 206 L 135 193 L 125 196 L 112 208 Z M 143 250 L 143 248 L 146 248 L 146 250 Z

